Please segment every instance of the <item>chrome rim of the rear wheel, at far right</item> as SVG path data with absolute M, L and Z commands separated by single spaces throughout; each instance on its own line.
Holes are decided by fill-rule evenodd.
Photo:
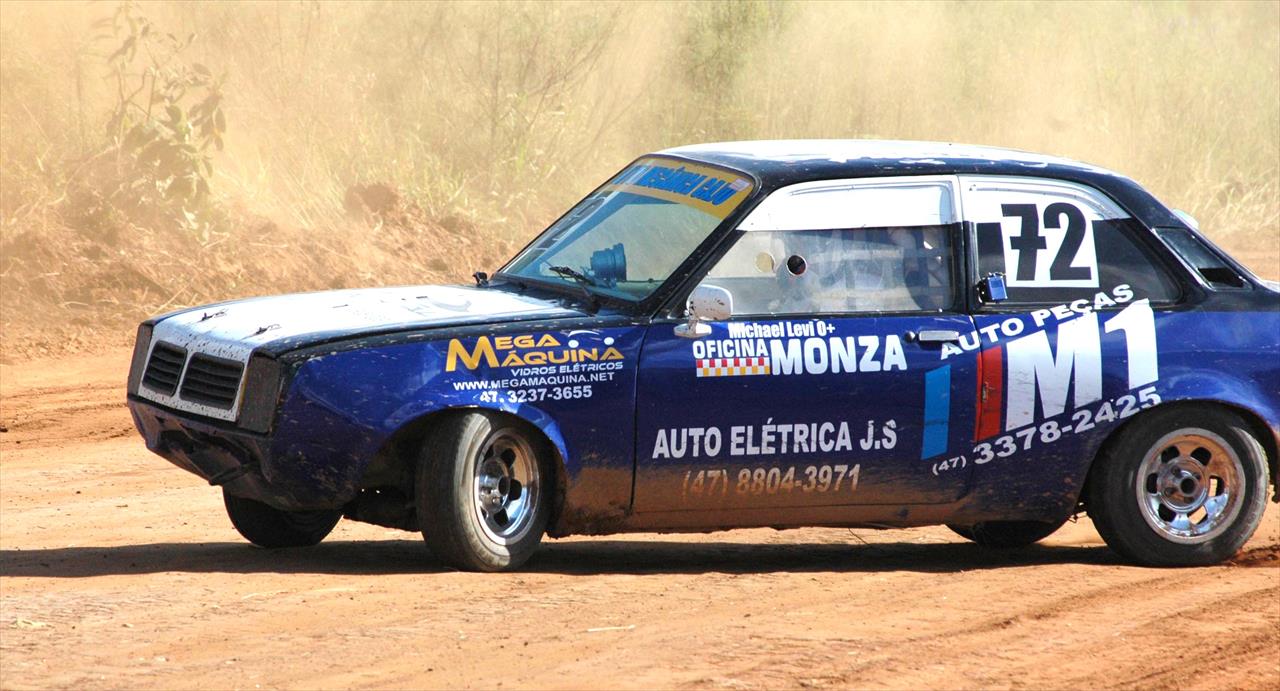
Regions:
M 1138 468 L 1137 490 L 1142 517 L 1161 537 L 1203 543 L 1240 513 L 1244 466 L 1225 439 L 1187 427 L 1151 447 Z

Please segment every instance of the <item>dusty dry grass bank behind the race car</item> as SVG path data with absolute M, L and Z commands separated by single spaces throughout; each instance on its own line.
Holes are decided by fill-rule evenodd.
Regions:
M 113 9 L 0 4 L 10 351 L 40 330 L 32 306 L 93 334 L 166 302 L 458 279 L 631 157 L 728 138 L 923 138 L 1087 160 L 1280 274 L 1277 3 L 141 4 L 156 26 L 196 33 L 191 59 L 228 74 L 212 178 L 224 223 L 202 241 L 221 253 L 173 253 L 189 242 L 175 229 L 77 209 L 77 177 L 109 145 L 110 44 L 90 26 Z M 388 256 L 361 242 L 384 219 L 344 211 L 347 189 L 372 182 L 411 210 Z M 252 244 L 271 244 L 262 228 L 276 250 Z M 58 247 L 18 252 L 42 243 Z M 183 292 L 184 266 L 216 280 Z M 95 267 L 155 285 L 73 285 Z

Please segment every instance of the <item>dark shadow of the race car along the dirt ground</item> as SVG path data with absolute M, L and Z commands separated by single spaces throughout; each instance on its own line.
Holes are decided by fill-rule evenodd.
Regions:
M 686 543 L 575 540 L 549 543 L 525 572 L 593 575 L 849 572 L 876 573 L 1117 564 L 1103 546 L 1033 545 L 991 550 L 966 543 Z M 419 540 L 333 541 L 312 548 L 260 549 L 244 543 L 150 543 L 0 550 L 5 577 L 84 578 L 163 572 L 334 573 L 351 576 L 453 571 Z

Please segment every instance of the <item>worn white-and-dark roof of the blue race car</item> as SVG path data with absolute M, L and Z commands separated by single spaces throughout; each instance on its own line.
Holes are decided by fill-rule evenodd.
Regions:
M 677 146 L 657 152 L 741 170 L 764 189 L 803 182 L 884 175 L 1021 175 L 1094 187 L 1148 226 L 1183 226 L 1129 178 L 1096 165 L 1012 148 L 890 139 L 767 139 Z

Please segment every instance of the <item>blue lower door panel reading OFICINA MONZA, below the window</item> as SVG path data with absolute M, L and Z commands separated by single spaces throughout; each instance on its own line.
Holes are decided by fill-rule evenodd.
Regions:
M 947 503 L 964 494 L 966 471 L 920 473 L 920 453 L 968 439 L 974 399 L 950 398 L 951 377 L 975 381 L 977 360 L 951 358 L 946 381 L 931 386 L 940 348 L 908 334 L 968 333 L 968 316 L 733 320 L 712 329 L 699 340 L 669 325 L 650 329 L 637 394 L 637 512 Z M 733 357 L 741 352 L 751 354 Z M 933 426 L 931 402 L 945 408 Z M 709 434 L 718 443 L 699 444 Z M 856 486 L 804 486 L 809 467 L 836 465 L 859 468 Z M 762 491 L 739 488 L 744 471 L 772 467 L 781 476 L 765 477 Z M 712 486 L 704 475 L 690 488 L 690 473 L 708 470 L 726 481 Z M 787 486 L 788 472 L 799 488 L 796 477 Z

